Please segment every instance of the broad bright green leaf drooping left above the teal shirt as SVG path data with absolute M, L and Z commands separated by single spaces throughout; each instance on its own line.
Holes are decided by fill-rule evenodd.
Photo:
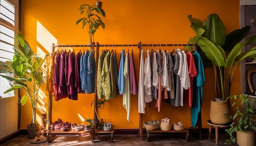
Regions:
M 224 66 L 224 58 L 220 50 L 209 41 L 207 38 L 200 38 L 197 40 L 198 46 L 204 51 L 207 58 L 209 58 L 216 66 Z

